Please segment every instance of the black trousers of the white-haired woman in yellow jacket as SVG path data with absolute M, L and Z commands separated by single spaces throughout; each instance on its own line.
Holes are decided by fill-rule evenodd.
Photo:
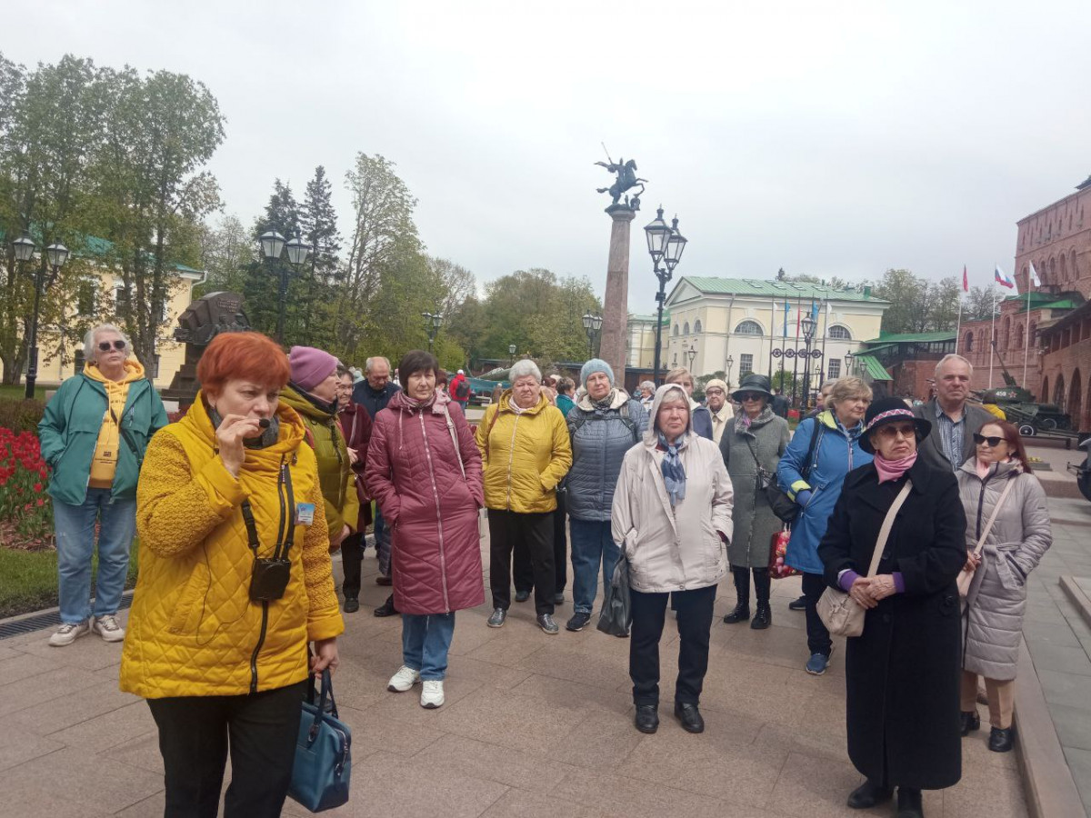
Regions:
M 530 560 L 535 611 L 553 613 L 553 513 L 519 514 L 489 509 L 489 587 L 492 606 L 512 604 L 512 552 L 524 543 Z M 519 582 L 518 561 L 515 581 Z M 526 590 L 528 586 L 520 588 Z

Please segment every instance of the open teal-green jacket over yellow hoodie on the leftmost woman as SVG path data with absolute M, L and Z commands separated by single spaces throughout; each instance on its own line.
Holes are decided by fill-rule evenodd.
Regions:
M 52 471 L 49 496 L 53 500 L 77 506 L 87 498 L 91 460 L 107 407 L 106 388 L 83 374 L 64 381 L 46 404 L 38 438 L 41 457 Z M 144 377 L 129 384 L 111 500 L 135 500 L 144 450 L 152 435 L 168 422 L 167 410 L 151 381 Z

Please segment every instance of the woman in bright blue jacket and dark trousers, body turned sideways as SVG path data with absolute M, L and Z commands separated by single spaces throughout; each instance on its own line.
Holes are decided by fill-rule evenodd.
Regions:
M 811 652 L 806 671 L 815 676 L 826 672 L 829 654 L 834 652 L 829 630 L 818 617 L 816 608 L 826 589 L 818 543 L 841 494 L 844 476 L 872 461 L 872 456 L 860 448 L 859 440 L 871 402 L 872 390 L 859 377 L 837 381 L 826 401 L 826 410 L 800 423 L 777 466 L 781 491 L 800 506 L 784 562 L 803 573 L 807 649 Z

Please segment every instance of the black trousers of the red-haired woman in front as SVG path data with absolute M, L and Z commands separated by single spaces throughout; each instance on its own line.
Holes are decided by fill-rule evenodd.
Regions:
M 231 783 L 224 818 L 275 818 L 291 783 L 307 681 L 245 696 L 148 699 L 159 727 L 165 818 L 216 818 L 224 766 Z

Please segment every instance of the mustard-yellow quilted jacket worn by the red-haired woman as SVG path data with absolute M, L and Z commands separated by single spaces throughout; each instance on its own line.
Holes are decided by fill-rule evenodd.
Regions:
M 154 699 L 285 687 L 307 676 L 308 640 L 344 630 L 314 453 L 295 410 L 280 402 L 277 418 L 279 440 L 247 449 L 238 480 L 219 458 L 200 394 L 182 420 L 148 444 L 136 490 L 140 578 L 121 658 L 122 690 Z M 288 587 L 272 602 L 250 600 L 247 498 L 262 557 L 273 555 L 281 503 L 288 514 L 293 504 L 314 505 L 314 521 L 295 526 Z

